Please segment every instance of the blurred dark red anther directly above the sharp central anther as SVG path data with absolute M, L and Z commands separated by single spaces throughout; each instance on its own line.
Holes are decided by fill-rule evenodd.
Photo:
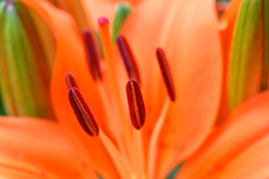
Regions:
M 140 84 L 138 67 L 127 40 L 122 35 L 118 35 L 117 44 L 129 78 Z

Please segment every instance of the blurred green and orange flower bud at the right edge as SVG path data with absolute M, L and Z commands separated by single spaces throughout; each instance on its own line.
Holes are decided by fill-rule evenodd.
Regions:
M 268 88 L 269 2 L 244 0 L 237 17 L 230 54 L 230 111 Z

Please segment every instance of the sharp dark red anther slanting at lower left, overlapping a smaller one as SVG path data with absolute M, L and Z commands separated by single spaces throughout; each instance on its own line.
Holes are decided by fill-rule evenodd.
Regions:
M 75 116 L 84 131 L 87 132 L 87 134 L 89 134 L 90 136 L 98 136 L 99 127 L 79 89 L 69 89 L 68 99 L 75 113 Z

